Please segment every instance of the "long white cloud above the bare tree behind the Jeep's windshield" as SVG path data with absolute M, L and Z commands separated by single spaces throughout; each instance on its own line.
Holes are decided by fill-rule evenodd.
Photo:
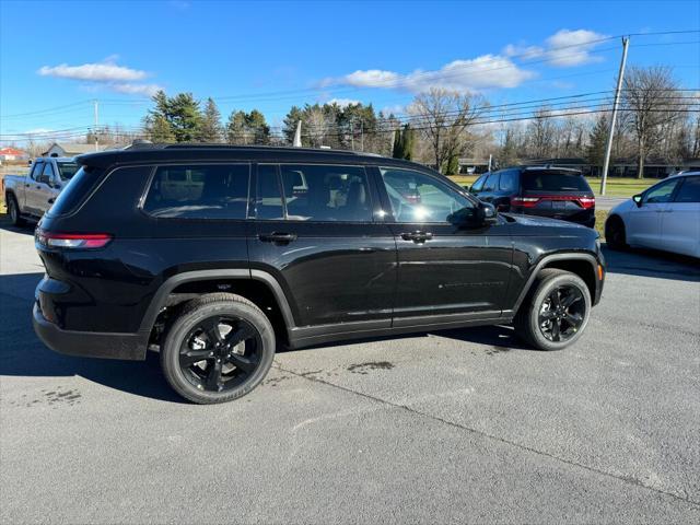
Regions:
M 378 69 L 360 70 L 340 78 L 324 79 L 322 85 L 400 89 L 417 93 L 431 88 L 475 92 L 489 88 L 516 88 L 533 77 L 533 71 L 520 69 L 506 57 L 483 55 L 470 60 L 454 60 L 438 70 L 416 70 L 408 74 Z

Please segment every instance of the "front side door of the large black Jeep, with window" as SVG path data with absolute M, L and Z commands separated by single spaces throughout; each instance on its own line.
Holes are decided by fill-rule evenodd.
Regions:
M 398 256 L 394 326 L 498 317 L 510 280 L 511 236 L 505 220 L 472 229 L 450 222 L 478 202 L 428 172 L 378 167 Z M 418 189 L 411 203 L 392 186 L 405 178 Z

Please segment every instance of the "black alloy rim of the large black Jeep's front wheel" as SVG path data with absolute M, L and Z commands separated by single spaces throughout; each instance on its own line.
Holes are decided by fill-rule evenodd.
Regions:
M 539 307 L 539 329 L 546 339 L 565 342 L 581 329 L 585 313 L 586 304 L 578 287 L 557 287 Z

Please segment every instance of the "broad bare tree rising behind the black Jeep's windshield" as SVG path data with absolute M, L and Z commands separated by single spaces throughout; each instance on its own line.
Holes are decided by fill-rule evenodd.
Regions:
M 438 171 L 464 151 L 469 140 L 467 127 L 474 125 L 486 108 L 486 101 L 479 96 L 439 88 L 431 88 L 415 98 L 410 113 L 430 144 Z

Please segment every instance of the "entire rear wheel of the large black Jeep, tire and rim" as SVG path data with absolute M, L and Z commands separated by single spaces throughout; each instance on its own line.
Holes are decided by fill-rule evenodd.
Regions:
M 171 323 L 161 368 L 185 399 L 200 405 L 231 401 L 265 378 L 275 343 L 275 329 L 255 304 L 232 293 L 211 293 L 189 301 Z

